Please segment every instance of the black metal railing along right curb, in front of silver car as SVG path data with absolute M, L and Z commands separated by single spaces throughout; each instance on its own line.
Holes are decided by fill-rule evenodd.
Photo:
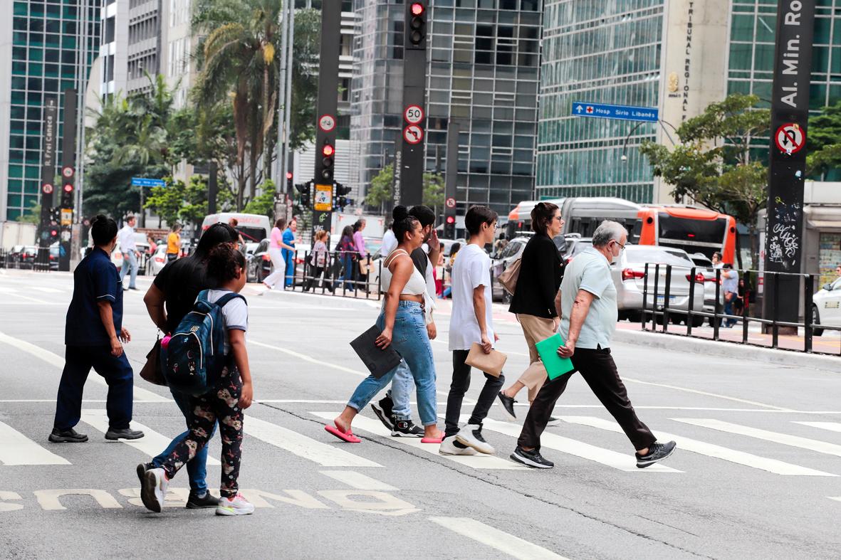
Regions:
M 672 277 L 675 268 L 680 269 L 680 273 L 685 273 L 687 269 L 690 269 L 689 277 L 693 279 L 696 277 L 698 272 L 708 270 L 706 268 L 698 267 L 673 267 L 672 265 L 647 263 L 645 265 L 645 277 L 643 280 L 643 330 L 663 332 L 670 335 L 682 335 L 690 336 L 693 338 L 703 338 L 706 340 L 711 339 L 713 341 L 738 343 L 746 346 L 770 346 L 771 348 L 778 348 L 781 350 L 804 351 L 810 353 L 814 352 L 832 355 L 838 355 L 839 353 L 841 353 L 841 340 L 828 341 L 827 344 L 822 344 L 822 347 L 817 350 L 814 348 L 813 337 L 816 331 L 822 332 L 825 330 L 841 330 L 841 326 L 812 323 L 812 296 L 815 293 L 814 283 L 817 275 L 791 274 L 786 272 L 760 272 L 753 270 L 733 269 L 734 272 L 738 272 L 739 278 L 753 277 L 759 283 L 764 282 L 764 285 L 767 286 L 770 284 L 774 287 L 774 302 L 770 306 L 770 317 L 763 318 L 756 316 L 756 314 L 751 311 L 753 307 L 758 308 L 759 306 L 749 305 L 749 288 L 747 282 L 745 284 L 748 290 L 746 290 L 745 297 L 747 297 L 748 300 L 744 302 L 741 314 L 726 314 L 723 312 L 723 310 L 719 309 L 718 305 L 714 306 L 712 312 L 705 311 L 704 309 L 696 309 L 694 305 L 695 292 L 696 289 L 699 289 L 699 287 L 698 283 L 694 280 L 690 280 L 689 283 L 688 309 L 680 309 L 679 311 L 677 309 L 670 308 L 670 296 L 673 294 L 671 289 Z M 663 270 L 665 270 L 664 275 L 661 273 L 661 271 Z M 651 276 L 649 272 L 651 271 L 653 271 L 653 282 L 649 280 L 649 277 Z M 723 271 L 722 269 L 716 269 L 715 272 L 715 301 L 718 302 L 721 300 L 723 295 Z M 664 276 L 663 283 L 660 283 L 661 276 Z M 781 276 L 796 276 L 801 278 L 802 290 L 801 294 L 799 295 L 802 297 L 801 303 L 802 309 L 804 310 L 802 322 L 784 321 L 780 320 L 780 317 L 778 316 L 778 309 L 780 307 L 780 290 L 778 288 Z M 703 284 L 701 284 L 700 289 L 703 289 L 702 286 Z M 791 297 L 791 295 L 786 295 L 785 297 Z M 661 298 L 662 304 L 660 304 Z M 697 318 L 700 318 L 701 321 L 703 321 L 704 319 L 709 320 L 712 326 L 711 334 L 708 331 L 706 333 L 699 333 Z M 673 325 L 671 329 L 669 328 L 670 323 L 680 323 L 682 320 L 685 320 L 685 332 L 676 332 L 675 329 L 678 328 L 676 325 Z M 736 325 L 739 325 L 741 327 L 740 336 L 737 336 L 735 338 L 730 336 L 722 336 L 722 323 L 725 323 L 727 321 L 735 321 Z M 751 332 L 751 324 L 762 325 L 761 333 L 759 333 L 759 335 L 757 335 L 757 333 Z M 797 335 L 795 337 L 791 337 L 791 335 L 784 335 L 785 344 L 781 344 L 780 328 L 783 327 L 793 327 L 797 330 L 797 332 L 800 332 L 802 330 L 802 340 L 800 340 L 801 337 Z M 829 346 L 836 347 L 832 351 L 829 351 Z

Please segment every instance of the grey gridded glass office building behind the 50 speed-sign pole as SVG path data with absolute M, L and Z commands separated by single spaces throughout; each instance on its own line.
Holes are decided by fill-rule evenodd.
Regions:
M 403 122 L 404 3 L 356 0 L 351 140 L 359 196 L 394 157 Z M 458 214 L 507 214 L 534 188 L 538 0 L 439 0 L 429 24 L 426 171 L 443 172 L 458 121 Z M 362 24 L 364 23 L 364 24 Z

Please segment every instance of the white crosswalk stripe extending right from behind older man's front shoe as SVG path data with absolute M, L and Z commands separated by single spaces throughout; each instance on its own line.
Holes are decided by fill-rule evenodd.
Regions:
M 561 420 L 569 422 L 570 424 L 588 425 L 600 430 L 614 431 L 623 433 L 621 428 L 611 420 L 602 420 L 595 416 L 561 416 Z M 698 453 L 699 455 L 706 455 L 707 457 L 716 457 L 724 461 L 735 462 L 745 467 L 758 468 L 759 470 L 768 471 L 769 473 L 783 474 L 786 476 L 801 476 L 801 477 L 835 477 L 837 474 L 824 473 L 812 468 L 801 467 L 793 465 L 790 462 L 777 461 L 776 459 L 769 459 L 767 457 L 759 457 L 751 453 L 740 452 L 729 447 L 717 446 L 706 441 L 693 440 L 684 436 L 675 436 L 664 431 L 657 431 L 657 435 L 662 440 L 674 440 L 678 444 L 678 451 L 684 450 L 688 452 Z

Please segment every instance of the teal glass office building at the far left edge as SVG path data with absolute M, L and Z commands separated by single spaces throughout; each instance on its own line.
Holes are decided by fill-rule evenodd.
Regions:
M 61 162 L 63 92 L 81 89 L 80 77 L 90 70 L 100 42 L 99 9 L 96 0 L 15 0 L 0 23 L 0 219 L 17 219 L 40 204 L 48 96 L 58 99 Z

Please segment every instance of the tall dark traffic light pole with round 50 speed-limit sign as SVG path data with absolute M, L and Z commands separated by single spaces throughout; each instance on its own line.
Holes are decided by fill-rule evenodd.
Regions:
M 394 158 L 394 198 L 405 206 L 423 203 L 426 146 L 426 0 L 405 3 L 403 50 L 403 140 Z M 398 171 L 397 167 L 401 169 Z

